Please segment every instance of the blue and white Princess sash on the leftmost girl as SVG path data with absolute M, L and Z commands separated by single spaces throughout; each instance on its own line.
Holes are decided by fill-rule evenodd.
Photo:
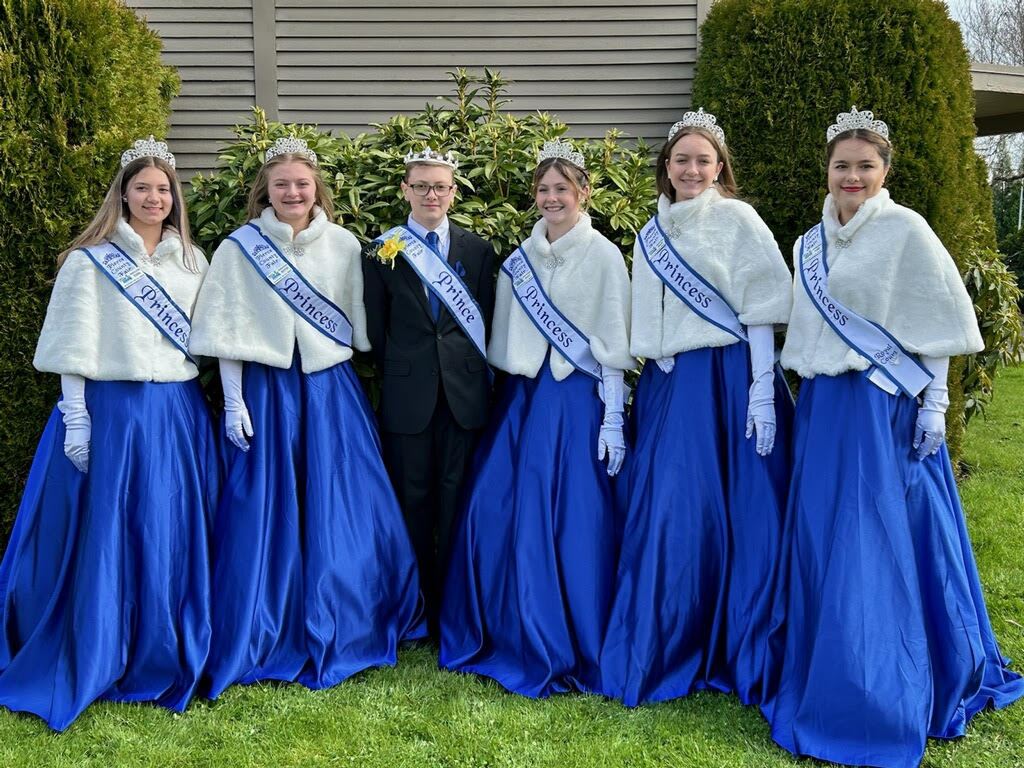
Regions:
M 191 336 L 188 315 L 153 275 L 143 272 L 131 256 L 109 241 L 82 250 L 164 338 L 186 359 L 196 362 L 188 354 L 188 339 Z

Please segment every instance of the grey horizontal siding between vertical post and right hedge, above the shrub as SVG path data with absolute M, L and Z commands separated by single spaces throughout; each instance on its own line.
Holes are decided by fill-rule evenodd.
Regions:
M 357 133 L 452 93 L 446 72 L 500 70 L 513 112 L 571 135 L 659 141 L 689 103 L 696 2 L 278 0 L 281 117 Z

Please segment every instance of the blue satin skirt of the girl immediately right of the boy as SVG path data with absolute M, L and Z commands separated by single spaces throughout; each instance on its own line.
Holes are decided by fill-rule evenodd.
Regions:
M 595 687 L 616 551 L 603 413 L 579 372 L 506 382 L 456 525 L 441 667 L 532 697 Z

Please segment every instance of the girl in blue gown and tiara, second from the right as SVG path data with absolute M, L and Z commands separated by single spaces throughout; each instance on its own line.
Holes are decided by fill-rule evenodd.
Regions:
M 790 274 L 768 227 L 734 197 L 713 116 L 689 112 L 673 126 L 656 176 L 657 214 L 633 253 L 631 351 L 647 361 L 636 451 L 616 486 L 625 522 L 601 690 L 629 707 L 701 688 L 749 703 L 760 696 L 788 479 L 792 400 L 773 372 L 772 326 L 788 316 Z M 663 281 L 658 232 L 705 287 Z M 705 312 L 713 294 L 731 330 L 684 301 Z

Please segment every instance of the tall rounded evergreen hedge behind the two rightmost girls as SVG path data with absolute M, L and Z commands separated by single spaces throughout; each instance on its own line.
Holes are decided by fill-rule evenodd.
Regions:
M 940 0 L 720 0 L 701 28 L 693 103 L 718 116 L 743 194 L 783 254 L 820 217 L 825 129 L 851 104 L 890 127 L 893 199 L 928 219 L 963 272 L 999 276 L 991 198 L 973 139 L 974 95 L 967 50 Z M 976 289 L 979 287 L 975 287 Z M 973 295 L 985 294 L 986 286 Z M 980 303 L 979 303 L 980 302 Z M 954 360 L 948 438 L 959 455 L 970 404 L 990 387 L 1002 334 L 986 330 L 989 357 Z M 995 324 L 998 326 L 998 324 Z M 1005 326 L 1006 324 L 1004 324 Z M 1001 328 L 1001 326 L 999 326 Z M 998 347 L 998 349 L 996 349 Z M 987 378 L 986 378 L 987 377 Z

